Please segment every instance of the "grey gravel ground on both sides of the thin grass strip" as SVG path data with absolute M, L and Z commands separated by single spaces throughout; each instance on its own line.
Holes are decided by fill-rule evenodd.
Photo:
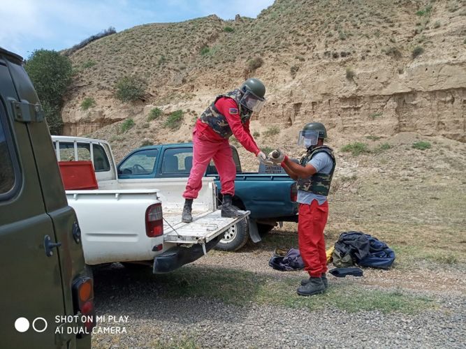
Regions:
M 270 269 L 269 257 L 270 251 L 254 249 L 214 252 L 194 265 L 234 266 L 274 279 L 289 277 L 290 273 Z M 303 272 L 291 274 L 305 276 Z M 254 302 L 236 306 L 209 298 L 169 298 L 163 295 L 168 288 L 166 279 L 147 281 L 145 271 L 113 265 L 96 271 L 96 308 L 98 315 L 129 316 L 127 322 L 114 325 L 124 327 L 126 333 L 94 334 L 92 343 L 94 348 L 465 348 L 462 275 L 454 268 L 365 269 L 363 278 L 330 279 L 334 285 L 360 283 L 380 290 L 396 288 L 434 299 L 433 309 L 411 315 L 348 313 L 330 308 L 308 311 Z

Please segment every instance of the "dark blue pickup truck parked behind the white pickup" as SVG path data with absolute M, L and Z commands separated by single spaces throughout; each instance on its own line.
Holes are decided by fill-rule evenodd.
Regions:
M 241 221 L 225 233 L 216 246 L 223 251 L 238 250 L 249 237 L 253 242 L 261 241 L 261 234 L 270 231 L 277 222 L 298 221 L 295 181 L 288 174 L 275 173 L 276 166 L 261 165 L 260 173 L 242 172 L 238 151 L 233 146 L 231 149 L 236 165 L 233 203 L 240 209 L 251 211 L 251 215 L 248 222 Z M 131 151 L 117 165 L 118 178 L 189 177 L 192 160 L 192 143 L 150 145 Z M 205 175 L 215 177 L 220 192 L 219 175 L 213 161 L 207 166 Z

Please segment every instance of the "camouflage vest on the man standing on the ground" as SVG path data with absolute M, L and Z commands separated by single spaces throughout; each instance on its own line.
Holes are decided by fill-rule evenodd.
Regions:
M 300 164 L 305 166 L 317 153 L 321 151 L 326 152 L 330 155 L 333 161 L 333 167 L 329 174 L 326 173 L 314 173 L 311 177 L 306 179 L 298 179 L 297 187 L 300 191 L 310 191 L 311 193 L 317 195 L 328 195 L 328 191 L 330 191 L 330 183 L 332 182 L 333 171 L 335 171 L 335 156 L 333 155 L 333 150 L 326 145 L 321 145 L 320 147 L 316 147 L 312 150 L 307 151 L 305 156 L 303 156 L 300 160 Z

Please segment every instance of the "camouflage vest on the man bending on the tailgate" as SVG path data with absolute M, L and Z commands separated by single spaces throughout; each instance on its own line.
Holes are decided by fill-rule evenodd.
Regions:
M 233 132 L 231 131 L 230 126 L 228 125 L 228 121 L 226 121 L 226 117 L 224 117 L 224 115 L 219 112 L 217 107 L 215 107 L 215 103 L 221 97 L 229 97 L 236 102 L 240 111 L 240 118 L 242 124 L 245 124 L 247 120 L 251 119 L 252 112 L 247 111 L 244 107 L 241 106 L 240 100 L 242 97 L 242 93 L 239 89 L 235 89 L 234 91 L 217 96 L 217 98 L 215 98 L 214 103 L 207 107 L 207 109 L 201 114 L 200 119 L 204 124 L 209 125 L 212 128 L 212 130 L 214 130 L 221 136 L 221 138 L 230 138 L 231 135 L 233 135 Z

